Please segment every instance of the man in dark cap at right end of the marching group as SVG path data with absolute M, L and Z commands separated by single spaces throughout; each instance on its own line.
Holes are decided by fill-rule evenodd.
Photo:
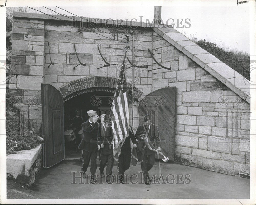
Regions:
M 143 121 L 143 125 L 138 127 L 135 136 L 138 140 L 138 159 L 139 161 L 143 160 L 141 162 L 141 171 L 143 172 L 145 184 L 149 184 L 148 171 L 155 164 L 155 152 L 147 146 L 145 137 L 149 143 L 156 143 L 158 151 L 161 151 L 161 148 L 158 128 L 156 125 L 151 123 L 150 115 L 145 115 Z

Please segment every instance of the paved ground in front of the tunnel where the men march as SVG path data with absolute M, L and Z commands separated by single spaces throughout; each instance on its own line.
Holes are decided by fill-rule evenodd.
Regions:
M 174 174 L 169 177 L 169 183 L 173 184 L 107 184 L 105 181 L 100 184 L 100 177 L 97 178 L 98 183 L 79 184 L 80 178 L 73 182 L 72 171 L 80 171 L 80 160 L 64 160 L 54 167 L 43 169 L 39 182 L 34 191 L 27 196 L 28 199 L 248 199 L 249 198 L 249 179 L 229 176 L 217 172 L 202 170 L 195 167 L 189 167 L 180 164 L 161 163 L 161 171 L 164 177 L 168 174 Z M 90 167 L 88 167 L 90 169 Z M 130 166 L 126 174 L 138 174 L 141 171 L 139 166 Z M 117 174 L 117 166 L 113 168 L 113 174 Z M 99 174 L 97 168 L 96 174 Z M 159 176 L 158 162 L 150 170 L 150 174 Z M 177 176 L 177 174 L 179 174 Z M 183 177 L 182 177 L 183 174 Z M 188 175 L 186 175 L 188 174 Z M 76 176 L 79 176 L 77 173 Z M 187 179 L 184 178 L 186 175 Z M 190 175 L 190 177 L 189 177 Z M 180 178 L 180 179 L 178 179 Z M 189 183 L 190 180 L 191 182 Z M 133 182 L 140 177 L 132 178 Z M 161 181 L 160 181 L 161 182 Z M 166 180 L 165 180 L 166 182 Z M 177 184 L 177 183 L 184 184 Z M 83 179 L 86 183 L 86 179 Z M 185 184 L 189 183 L 189 184 Z M 8 192 L 7 192 L 8 193 Z M 8 199 L 12 199 L 12 195 L 7 194 Z

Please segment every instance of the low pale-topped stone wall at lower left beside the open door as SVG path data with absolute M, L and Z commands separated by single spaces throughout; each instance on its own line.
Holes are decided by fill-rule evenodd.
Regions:
M 13 176 L 13 179 L 24 182 L 30 187 L 30 185 L 35 182 L 34 175 L 38 174 L 38 172 L 35 172 L 33 170 L 34 167 L 32 168 L 32 165 L 38 158 L 40 159 L 38 161 L 41 162 L 41 150 L 42 144 L 38 145 L 34 149 L 21 150 L 18 151 L 16 154 L 7 155 L 6 173 L 11 174 Z

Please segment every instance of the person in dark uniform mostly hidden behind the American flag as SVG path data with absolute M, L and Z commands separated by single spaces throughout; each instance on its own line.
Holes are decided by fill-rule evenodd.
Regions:
M 117 170 L 118 170 L 118 178 L 119 182 L 123 184 L 123 178 L 124 178 L 124 172 L 129 169 L 130 167 L 130 162 L 131 162 L 131 140 L 133 147 L 137 147 L 137 141 L 135 138 L 135 135 L 132 131 L 132 128 L 129 127 L 129 136 L 126 137 L 123 146 L 121 147 L 121 153 L 118 157 L 118 165 L 117 165 Z

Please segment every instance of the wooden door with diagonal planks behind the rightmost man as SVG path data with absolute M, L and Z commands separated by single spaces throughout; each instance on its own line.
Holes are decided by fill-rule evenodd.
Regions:
M 143 116 L 150 114 L 151 123 L 157 125 L 161 148 L 170 160 L 174 160 L 175 135 L 175 100 L 176 87 L 156 90 L 139 103 L 139 124 L 143 123 Z

